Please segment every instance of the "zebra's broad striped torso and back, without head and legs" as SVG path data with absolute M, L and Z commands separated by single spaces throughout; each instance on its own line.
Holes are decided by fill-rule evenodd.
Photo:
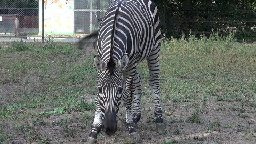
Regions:
M 114 1 L 99 29 L 97 51 L 102 60 L 113 58 L 117 62 L 125 53 L 129 55 L 129 66 L 145 60 L 155 44 L 155 9 L 149 0 Z

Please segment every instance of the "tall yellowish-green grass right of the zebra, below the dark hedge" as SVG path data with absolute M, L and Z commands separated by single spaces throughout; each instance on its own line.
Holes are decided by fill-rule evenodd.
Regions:
M 255 73 L 255 51 L 253 46 L 228 39 L 215 41 L 202 37 L 198 40 L 191 36 L 189 41 L 183 38 L 166 41 L 161 51 L 161 90 L 209 95 L 228 91 L 230 87 L 242 85 L 241 78 Z M 233 78 L 231 82 L 230 78 Z

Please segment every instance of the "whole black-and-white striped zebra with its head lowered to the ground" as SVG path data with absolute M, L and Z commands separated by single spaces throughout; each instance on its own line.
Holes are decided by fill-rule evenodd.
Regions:
M 87 143 L 96 143 L 101 130 L 108 136 L 117 131 L 116 117 L 121 101 L 125 106 L 129 137 L 139 139 L 135 129 L 141 118 L 141 78 L 136 68 L 145 59 L 155 103 L 156 130 L 164 130 L 158 99 L 160 27 L 157 7 L 151 0 L 115 0 L 103 15 L 99 30 L 79 42 L 84 44 L 85 39 L 98 35 L 98 55 L 94 56 L 98 91 Z

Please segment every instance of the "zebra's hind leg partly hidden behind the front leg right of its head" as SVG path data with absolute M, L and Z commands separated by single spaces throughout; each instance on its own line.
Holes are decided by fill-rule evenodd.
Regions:
M 141 97 L 141 78 L 140 75 L 137 73 L 134 77 L 133 81 L 133 126 L 135 129 L 138 127 L 138 121 L 141 117 L 141 106 L 140 106 L 140 97 Z

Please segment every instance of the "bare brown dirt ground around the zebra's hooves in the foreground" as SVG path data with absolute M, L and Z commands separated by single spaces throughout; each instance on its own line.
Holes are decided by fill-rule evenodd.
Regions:
M 11 90 L 10 90 L 11 92 Z M 7 101 L 7 94 L 4 95 Z M 9 97 L 10 98 L 10 97 Z M 233 105 L 234 103 L 230 103 Z M 201 106 L 202 107 L 202 106 Z M 207 107 L 214 107 L 214 102 L 207 102 Z M 144 106 L 142 108 L 146 113 L 154 113 L 152 106 Z M 255 112 L 250 111 L 248 113 L 250 118 L 241 118 L 236 116 L 233 111 L 212 111 L 209 110 L 207 114 L 201 114 L 203 119 L 203 124 L 195 124 L 190 122 L 180 122 L 180 123 L 170 123 L 170 119 L 179 119 L 181 111 L 190 111 L 193 109 L 184 109 L 181 107 L 173 108 L 170 104 L 169 106 L 163 106 L 164 110 L 168 110 L 170 116 L 164 115 L 165 130 L 164 133 L 157 133 L 155 129 L 154 117 L 148 118 L 146 115 L 141 117 L 141 121 L 138 123 L 137 132 L 140 136 L 140 141 L 135 143 L 256 143 L 255 135 L 249 134 L 244 129 L 249 129 L 253 127 L 255 129 Z M 51 109 L 51 108 L 46 108 Z M 43 109 L 38 109 L 43 110 Z M 45 109 L 44 109 L 45 110 Z M 121 108 L 121 113 L 118 117 L 118 131 L 112 137 L 107 137 L 104 133 L 100 133 L 98 136 L 98 143 L 132 143 L 129 142 L 127 128 L 125 126 L 125 113 L 124 108 Z M 21 111 L 20 113 L 26 113 L 26 111 Z M 89 111 L 92 115 L 94 111 Z M 82 113 L 70 113 L 62 115 L 51 115 L 49 118 L 44 118 L 46 122 L 45 125 L 33 125 L 31 121 L 33 118 L 24 119 L 19 121 L 20 124 L 29 124 L 30 128 L 39 131 L 43 135 L 51 138 L 50 143 L 85 143 L 87 136 L 90 132 L 92 118 L 89 122 L 78 121 L 79 117 L 82 117 Z M 183 118 L 186 119 L 189 114 L 183 114 Z M 76 135 L 74 138 L 66 138 L 63 129 L 57 125 L 53 125 L 53 122 L 60 121 L 61 118 L 74 118 L 72 122 L 68 123 L 69 126 L 75 127 Z M 213 119 L 219 119 L 221 122 L 221 128 L 218 131 L 206 132 L 205 126 L 209 124 Z M 7 139 L 10 143 L 30 143 L 28 142 L 28 135 L 25 131 L 13 130 L 14 125 L 17 121 L 4 121 L 4 130 L 6 134 L 14 135 L 14 137 Z M 232 127 L 224 128 L 226 124 L 231 124 Z M 242 127 L 238 126 L 241 125 Z M 176 130 L 180 130 L 180 133 L 175 133 Z M 241 129 L 241 130 L 239 130 Z M 34 143 L 34 142 L 33 142 Z

